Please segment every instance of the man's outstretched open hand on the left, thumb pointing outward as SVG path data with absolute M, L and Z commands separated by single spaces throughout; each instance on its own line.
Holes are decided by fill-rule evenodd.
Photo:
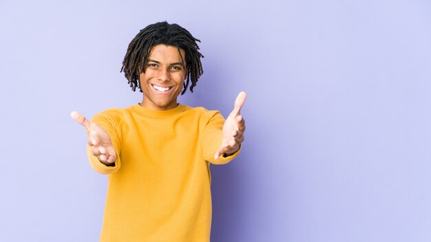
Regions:
M 94 122 L 88 121 L 81 113 L 72 111 L 70 116 L 78 123 L 85 126 L 90 132 L 88 137 L 88 145 L 90 145 L 92 154 L 98 158 L 103 164 L 109 166 L 115 162 L 117 157 L 111 138 L 101 126 Z

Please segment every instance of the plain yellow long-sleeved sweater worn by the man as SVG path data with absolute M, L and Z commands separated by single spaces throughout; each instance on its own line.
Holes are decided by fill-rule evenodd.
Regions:
M 136 104 L 92 121 L 109 133 L 117 153 L 115 166 L 89 153 L 94 170 L 108 175 L 101 241 L 209 241 L 209 163 L 225 164 L 239 152 L 214 160 L 222 115 L 182 104 L 168 111 Z

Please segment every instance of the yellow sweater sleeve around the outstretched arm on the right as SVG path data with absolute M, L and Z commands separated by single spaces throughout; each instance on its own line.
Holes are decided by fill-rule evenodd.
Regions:
M 218 111 L 213 113 L 211 112 L 211 114 L 212 116 L 209 119 L 209 122 L 204 126 L 200 140 L 202 153 L 204 159 L 208 162 L 211 162 L 212 164 L 227 164 L 240 153 L 240 148 L 232 155 L 227 157 L 222 155 L 218 159 L 214 159 L 215 152 L 218 150 L 218 148 L 220 148 L 223 140 L 222 129 L 224 118 Z

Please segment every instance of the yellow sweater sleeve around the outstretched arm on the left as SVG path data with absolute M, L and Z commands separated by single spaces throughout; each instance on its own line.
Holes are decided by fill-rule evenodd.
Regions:
M 95 122 L 98 124 L 98 126 L 101 126 L 111 138 L 111 142 L 114 146 L 114 150 L 116 152 L 116 160 L 114 162 L 114 166 L 107 166 L 103 164 L 101 161 L 98 160 L 97 157 L 92 155 L 90 151 L 90 146 L 87 144 L 87 154 L 88 159 L 90 160 L 90 165 L 94 170 L 96 170 L 97 173 L 101 173 L 103 175 L 109 175 L 112 173 L 116 173 L 120 169 L 120 140 L 118 137 L 118 132 L 120 129 L 118 129 L 118 124 L 115 122 L 115 120 L 112 117 L 109 117 L 108 115 L 105 115 L 103 113 L 98 113 L 94 115 L 92 118 L 92 122 Z

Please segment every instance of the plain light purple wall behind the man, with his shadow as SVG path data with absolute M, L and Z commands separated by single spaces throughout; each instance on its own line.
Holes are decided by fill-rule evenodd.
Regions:
M 431 241 L 430 1 L 0 1 L 0 241 L 97 241 L 89 118 L 141 100 L 120 74 L 149 23 L 202 41 L 180 102 L 246 141 L 213 174 L 212 241 Z

